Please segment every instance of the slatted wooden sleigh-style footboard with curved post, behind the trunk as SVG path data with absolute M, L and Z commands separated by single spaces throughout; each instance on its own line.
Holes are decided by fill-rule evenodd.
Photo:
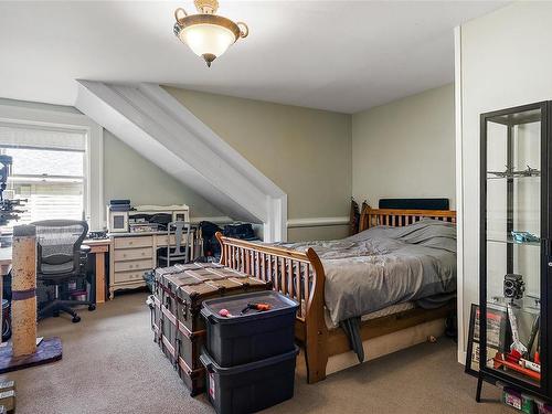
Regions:
M 296 337 L 305 346 L 307 381 L 326 378 L 328 329 L 323 317 L 325 273 L 312 248 L 289 248 L 245 242 L 216 233 L 221 244 L 221 264 L 262 280 L 273 289 L 299 302 Z

